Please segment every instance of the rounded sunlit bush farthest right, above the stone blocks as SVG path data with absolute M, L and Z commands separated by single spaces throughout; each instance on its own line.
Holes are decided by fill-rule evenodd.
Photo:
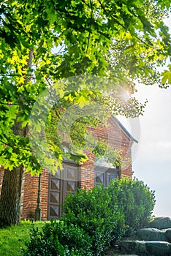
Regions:
M 147 224 L 156 200 L 154 192 L 150 191 L 143 181 L 137 179 L 132 181 L 126 178 L 116 179 L 107 189 L 112 198 L 110 207 L 115 206 L 117 191 L 120 211 L 125 216 L 125 224 L 129 226 L 129 230 Z

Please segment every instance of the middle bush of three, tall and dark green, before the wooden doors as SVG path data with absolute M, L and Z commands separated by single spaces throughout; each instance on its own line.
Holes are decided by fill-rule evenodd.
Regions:
M 74 196 L 68 195 L 63 206 L 63 220 L 83 228 L 93 238 L 94 255 L 99 255 L 113 239 L 123 234 L 124 217 L 116 200 L 109 207 L 111 197 L 104 187 L 91 190 L 78 189 Z M 120 225 L 118 225 L 118 223 Z

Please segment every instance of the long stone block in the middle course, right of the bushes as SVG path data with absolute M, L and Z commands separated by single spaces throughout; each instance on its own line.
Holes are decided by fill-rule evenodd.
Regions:
M 157 228 L 141 228 L 137 230 L 137 236 L 144 241 L 168 241 L 164 233 L 164 230 Z

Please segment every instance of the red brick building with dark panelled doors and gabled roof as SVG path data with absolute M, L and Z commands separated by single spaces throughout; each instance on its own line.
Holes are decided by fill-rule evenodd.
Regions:
M 132 158 L 132 144 L 137 143 L 132 135 L 123 127 L 117 118 L 111 117 L 107 126 L 99 125 L 89 128 L 96 138 L 106 140 L 108 145 L 122 151 L 123 159 Z M 94 154 L 88 153 L 88 160 L 83 165 L 72 161 L 63 163 L 63 170 L 56 170 L 52 175 L 46 168 L 41 174 L 41 219 L 58 219 L 61 217 L 61 204 L 67 193 L 75 193 L 77 187 L 90 189 L 94 184 L 100 183 L 107 186 L 110 180 L 116 177 L 127 176 L 132 178 L 132 164 L 127 160 L 123 167 L 114 168 L 104 159 L 96 159 Z M 0 168 L 0 192 L 3 180 L 3 168 Z M 23 197 L 21 202 L 21 217 L 34 219 L 37 207 L 38 176 L 25 173 L 23 177 Z

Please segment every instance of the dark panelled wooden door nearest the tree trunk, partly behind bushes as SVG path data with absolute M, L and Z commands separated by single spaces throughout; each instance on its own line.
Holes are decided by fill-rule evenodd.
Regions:
M 79 185 L 79 166 L 71 163 L 63 166 L 63 170 L 58 169 L 55 175 L 49 176 L 47 219 L 60 219 L 66 195 L 74 194 Z

